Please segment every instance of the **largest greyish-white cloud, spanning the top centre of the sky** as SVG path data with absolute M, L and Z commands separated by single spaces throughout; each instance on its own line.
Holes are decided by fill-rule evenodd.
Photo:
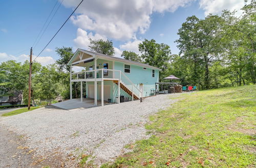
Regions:
M 72 22 L 86 31 L 104 35 L 115 40 L 130 40 L 136 33 L 143 34 L 151 23 L 153 12 L 174 12 L 178 7 L 195 0 L 88 0 L 77 9 Z M 66 7 L 74 8 L 76 0 L 63 2 Z

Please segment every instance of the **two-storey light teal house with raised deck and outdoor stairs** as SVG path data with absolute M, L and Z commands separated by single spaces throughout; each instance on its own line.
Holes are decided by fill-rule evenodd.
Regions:
M 77 49 L 68 65 L 71 65 L 70 99 L 72 82 L 86 82 L 86 97 L 94 98 L 94 105 L 97 105 L 97 100 L 103 105 L 108 99 L 120 103 L 120 96 L 138 100 L 158 89 L 155 83 L 159 82 L 161 69 L 147 64 Z M 72 66 L 86 67 L 86 71 L 71 73 Z

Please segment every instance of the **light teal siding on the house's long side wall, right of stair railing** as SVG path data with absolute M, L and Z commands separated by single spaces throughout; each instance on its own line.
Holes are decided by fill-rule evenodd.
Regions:
M 124 72 L 124 64 L 131 66 L 130 73 Z M 152 69 L 145 68 L 116 61 L 114 63 L 114 69 L 121 70 L 137 88 L 139 88 L 139 83 L 143 83 L 143 97 L 151 96 L 151 90 L 155 90 L 155 83 L 159 82 L 159 70 L 155 70 L 155 77 L 152 77 Z

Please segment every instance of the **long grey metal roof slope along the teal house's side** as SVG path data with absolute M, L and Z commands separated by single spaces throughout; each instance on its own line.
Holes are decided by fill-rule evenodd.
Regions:
M 90 52 L 92 53 L 93 55 L 96 55 L 96 56 L 99 56 L 99 57 L 103 57 L 103 58 L 108 58 L 108 59 L 111 59 L 111 60 L 115 60 L 115 61 L 120 61 L 120 62 L 125 62 L 125 63 L 130 63 L 130 64 L 134 64 L 134 65 L 139 65 L 139 66 L 142 66 L 142 67 L 148 67 L 148 68 L 152 68 L 152 69 L 158 69 L 161 71 L 160 68 L 157 68 L 157 67 L 153 67 L 151 65 L 147 65 L 147 64 L 143 64 L 143 63 L 139 63 L 139 62 L 135 62 L 135 61 L 131 61 L 131 60 L 125 60 L 125 59 L 122 59 L 122 58 L 118 58 L 118 57 L 114 57 L 114 56 L 110 56 L 110 55 L 106 55 L 106 54 L 103 54 L 103 53 L 98 53 L 98 52 L 94 52 L 94 51 L 89 51 L 89 50 L 85 50 L 85 49 L 81 49 L 81 48 L 78 48 L 76 50 L 77 51 L 81 51 L 81 52 Z M 75 52 L 75 53 L 76 53 Z M 74 54 L 75 55 L 75 54 Z

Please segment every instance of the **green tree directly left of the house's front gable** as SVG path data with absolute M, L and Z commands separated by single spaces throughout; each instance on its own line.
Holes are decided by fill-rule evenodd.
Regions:
M 55 48 L 55 51 L 59 55 L 60 59 L 56 61 L 56 64 L 59 66 L 60 70 L 65 69 L 66 71 L 70 71 L 70 66 L 68 65 L 70 59 L 73 57 L 74 53 L 72 51 L 72 47 L 64 47 Z

